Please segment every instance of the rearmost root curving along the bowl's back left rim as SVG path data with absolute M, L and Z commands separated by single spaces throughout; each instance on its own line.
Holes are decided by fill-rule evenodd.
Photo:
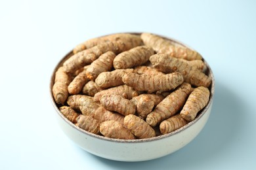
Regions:
M 133 44 L 133 46 L 139 46 L 142 44 L 142 40 L 140 39 L 139 35 L 132 35 L 129 33 L 118 33 L 114 35 L 106 35 L 104 37 L 98 37 L 95 39 L 89 39 L 75 46 L 73 53 L 76 54 L 77 52 L 80 52 L 87 48 L 91 48 L 93 46 L 96 46 L 98 44 L 102 44 L 108 41 L 124 41 L 124 42 L 129 42 L 130 44 Z

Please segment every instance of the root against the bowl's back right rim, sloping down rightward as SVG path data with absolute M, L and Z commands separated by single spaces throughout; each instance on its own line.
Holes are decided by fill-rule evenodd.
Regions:
M 175 58 L 187 60 L 202 59 L 202 56 L 198 52 L 163 39 L 158 35 L 142 33 L 140 37 L 146 46 L 150 46 L 158 53 L 165 53 Z

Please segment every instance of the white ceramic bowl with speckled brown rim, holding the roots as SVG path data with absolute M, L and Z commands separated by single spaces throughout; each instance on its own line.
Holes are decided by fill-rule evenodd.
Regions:
M 140 33 L 133 34 L 139 35 Z M 163 37 L 161 35 L 159 36 Z M 181 42 L 168 37 L 163 38 L 182 44 Z M 186 46 L 185 44 L 182 45 Z M 79 147 L 91 154 L 116 161 L 145 161 L 160 158 L 162 156 L 171 154 L 190 143 L 190 141 L 192 141 L 200 133 L 209 118 L 213 104 L 215 80 L 211 68 L 203 59 L 203 61 L 205 61 L 205 65 L 207 66 L 206 75 L 210 76 L 212 79 L 211 86 L 209 87 L 210 97 L 207 105 L 198 113 L 198 116 L 196 116 L 192 122 L 189 122 L 185 126 L 171 133 L 148 139 L 110 139 L 108 137 L 89 133 L 88 131 L 75 126 L 66 117 L 64 117 L 53 98 L 52 88 L 54 84 L 54 73 L 58 67 L 60 67 L 60 65 L 62 65 L 64 61 L 70 58 L 72 55 L 73 52 L 69 52 L 56 65 L 53 75 L 51 76 L 50 97 L 55 109 L 56 120 L 62 131 L 64 131 L 64 133 Z

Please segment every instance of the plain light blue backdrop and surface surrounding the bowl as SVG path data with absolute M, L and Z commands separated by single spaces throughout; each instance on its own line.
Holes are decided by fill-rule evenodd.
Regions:
M 87 39 L 147 31 L 198 50 L 216 79 L 209 122 L 143 162 L 93 156 L 56 124 L 49 81 Z M 0 1 L 0 169 L 256 169 L 255 1 Z

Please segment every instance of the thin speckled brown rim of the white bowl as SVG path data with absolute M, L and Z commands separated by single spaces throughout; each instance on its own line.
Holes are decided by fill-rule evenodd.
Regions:
M 131 33 L 134 35 L 140 35 L 140 32 L 125 32 L 125 33 Z M 112 35 L 112 34 L 116 34 L 116 33 L 111 33 L 108 35 Z M 154 35 L 158 35 L 156 33 L 153 33 Z M 105 35 L 104 35 L 105 36 Z M 190 48 L 188 45 L 184 44 L 183 42 L 179 42 L 173 38 L 170 37 L 165 37 L 163 35 L 158 35 L 164 39 L 167 39 L 169 41 L 173 41 L 176 42 L 178 44 L 181 44 L 182 46 L 185 46 L 186 48 Z M 102 37 L 102 36 L 100 36 Z M 193 50 L 193 48 L 190 48 L 191 50 Z M 70 52 L 68 52 L 68 54 L 66 54 L 59 62 L 58 64 L 54 67 L 53 72 L 51 74 L 51 80 L 50 80 L 50 97 L 51 97 L 51 102 L 53 104 L 54 109 L 56 110 L 58 116 L 60 116 L 62 118 L 62 120 L 64 120 L 64 122 L 66 122 L 69 126 L 73 127 L 74 129 L 80 131 L 81 133 L 85 134 L 85 135 L 89 135 L 91 137 L 94 137 L 96 139 L 101 139 L 104 141 L 109 141 L 109 142 L 114 142 L 114 143 L 145 143 L 145 142 L 152 142 L 152 141 L 158 141 L 161 139 L 165 139 L 167 137 L 171 137 L 173 135 L 177 135 L 178 133 L 180 133 L 181 131 L 184 131 L 185 129 L 188 129 L 188 127 L 192 126 L 193 124 L 195 124 L 196 122 L 198 122 L 198 120 L 200 120 L 200 118 L 202 118 L 202 116 L 204 116 L 205 112 L 207 112 L 207 110 L 209 109 L 209 107 L 211 106 L 211 103 L 213 102 L 213 95 L 215 92 L 215 79 L 213 76 L 213 71 L 211 69 L 211 67 L 209 66 L 209 64 L 207 63 L 207 61 L 205 61 L 205 59 L 202 57 L 202 60 L 204 61 L 206 67 L 207 67 L 207 72 L 208 72 L 208 76 L 211 77 L 211 85 L 210 85 L 210 96 L 209 96 L 209 101 L 207 103 L 207 105 L 203 108 L 203 110 L 200 110 L 200 112 L 198 113 L 198 115 L 196 116 L 196 118 L 194 120 L 192 120 L 191 122 L 189 122 L 188 124 L 186 124 L 185 126 L 182 126 L 179 129 L 176 129 L 175 131 L 172 131 L 170 133 L 167 134 L 163 134 L 163 135 L 158 135 L 156 137 L 150 137 L 150 138 L 146 138 L 146 139 L 113 139 L 110 137 L 104 137 L 102 135 L 96 135 L 94 133 L 90 133 L 89 131 L 85 131 L 84 129 L 81 129 L 80 127 L 75 126 L 74 123 L 70 122 L 70 120 L 68 120 L 68 118 L 66 118 L 58 109 L 55 101 L 54 101 L 54 97 L 53 97 L 53 92 L 52 92 L 52 88 L 53 88 L 53 84 L 54 84 L 54 77 L 55 77 L 55 73 L 57 71 L 57 69 L 64 63 L 64 61 L 66 61 L 66 59 L 70 58 L 70 56 L 74 55 L 73 51 L 71 50 Z

